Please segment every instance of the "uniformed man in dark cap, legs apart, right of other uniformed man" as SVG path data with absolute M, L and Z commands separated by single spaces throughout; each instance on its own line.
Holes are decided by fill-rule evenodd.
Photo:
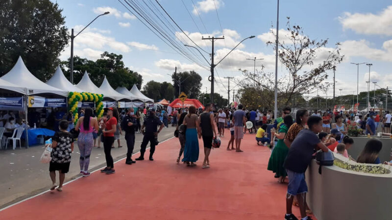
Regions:
M 160 125 L 159 130 L 157 127 Z M 155 146 L 158 144 L 158 133 L 163 129 L 164 124 L 157 116 L 155 116 L 155 109 L 150 109 L 148 115 L 144 119 L 142 126 L 142 133 L 144 135 L 142 145 L 140 146 L 140 157 L 136 160 L 144 160 L 144 153 L 146 152 L 147 143 L 150 142 L 150 156 L 149 160 L 154 160 L 152 155 L 155 152 Z M 146 131 L 144 131 L 146 128 Z

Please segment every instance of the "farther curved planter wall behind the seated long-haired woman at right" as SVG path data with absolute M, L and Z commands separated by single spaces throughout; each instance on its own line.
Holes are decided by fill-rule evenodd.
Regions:
M 383 143 L 383 148 L 379 154 L 381 162 L 390 161 L 391 160 L 391 149 L 392 149 L 392 139 L 391 138 L 379 138 L 372 137 L 380 140 Z M 352 156 L 352 158 L 357 159 L 359 154 L 361 154 L 362 150 L 365 148 L 366 143 L 370 138 L 367 137 L 352 137 L 354 139 L 354 144 L 351 146 L 347 152 Z

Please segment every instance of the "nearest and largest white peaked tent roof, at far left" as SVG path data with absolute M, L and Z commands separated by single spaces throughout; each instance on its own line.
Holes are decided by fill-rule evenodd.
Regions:
M 28 71 L 22 57 L 18 58 L 15 66 L 0 79 L 7 82 L 13 83 L 21 88 L 20 93 L 27 95 L 40 94 L 40 93 L 52 93 L 67 97 L 68 91 L 61 90 L 59 88 L 51 87 L 48 84 L 37 79 L 30 71 Z M 22 91 L 23 90 L 23 91 Z

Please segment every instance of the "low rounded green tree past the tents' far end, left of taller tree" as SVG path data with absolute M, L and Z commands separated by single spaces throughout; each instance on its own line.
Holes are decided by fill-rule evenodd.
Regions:
M 151 80 L 143 87 L 142 93 L 156 102 L 162 99 L 174 100 L 174 87 L 168 82 L 159 83 Z

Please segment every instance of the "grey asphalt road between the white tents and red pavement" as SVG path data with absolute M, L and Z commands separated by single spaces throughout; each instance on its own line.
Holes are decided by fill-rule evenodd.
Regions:
M 164 128 L 158 136 L 159 141 L 171 138 L 174 130 L 175 128 L 171 126 Z M 140 151 L 142 139 L 143 135 L 136 133 L 134 153 Z M 112 149 L 112 156 L 115 161 L 122 159 L 126 155 L 127 148 L 124 135 L 121 135 L 121 145 L 123 148 L 117 148 L 117 141 L 115 141 L 115 148 Z M 32 146 L 28 149 L 22 147 L 22 149 L 17 148 L 16 150 L 12 150 L 12 148 L 11 150 L 0 150 L 0 209 L 31 195 L 43 192 L 51 185 L 49 165 L 39 161 L 43 152 L 43 145 Z M 80 172 L 79 156 L 79 149 L 77 142 L 75 142 L 70 171 L 66 175 L 66 182 L 78 176 Z M 90 158 L 90 170 L 104 166 L 103 143 L 101 143 L 101 148 L 93 149 Z

